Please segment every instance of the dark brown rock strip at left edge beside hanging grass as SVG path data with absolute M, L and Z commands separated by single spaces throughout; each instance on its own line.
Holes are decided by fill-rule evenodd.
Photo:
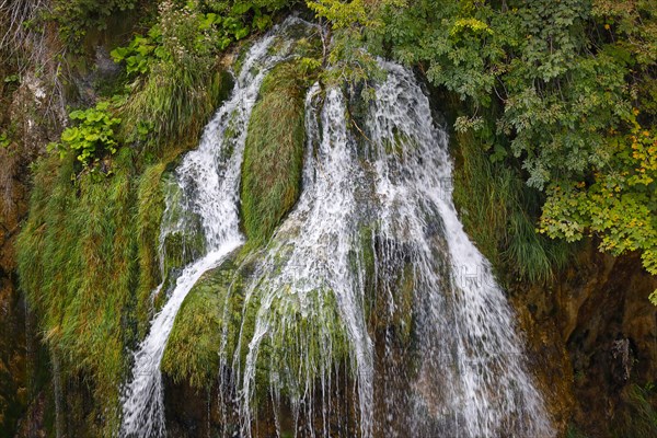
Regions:
M 49 107 L 43 82 L 27 71 L 20 84 L 4 85 L 0 99 L 0 437 L 23 415 L 34 390 L 38 364 L 36 321 L 18 290 L 15 240 L 27 214 L 30 164 L 45 152 L 53 138 Z M 4 435 L 7 430 L 7 435 Z

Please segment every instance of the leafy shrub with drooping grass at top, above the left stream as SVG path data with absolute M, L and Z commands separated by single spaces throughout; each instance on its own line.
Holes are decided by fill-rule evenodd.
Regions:
M 113 50 L 135 77 L 123 106 L 126 137 L 161 152 L 168 145 L 194 142 L 211 112 L 231 88 L 217 66 L 215 28 L 200 28 L 194 4 L 160 5 L 160 22 L 146 37 Z

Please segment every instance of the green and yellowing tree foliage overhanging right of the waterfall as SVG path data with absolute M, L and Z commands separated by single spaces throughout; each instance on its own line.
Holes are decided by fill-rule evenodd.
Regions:
M 638 251 L 657 274 L 655 11 L 654 0 L 410 0 L 381 20 L 394 57 L 469 105 L 457 128 L 491 159 L 521 163 L 545 199 L 541 232 Z

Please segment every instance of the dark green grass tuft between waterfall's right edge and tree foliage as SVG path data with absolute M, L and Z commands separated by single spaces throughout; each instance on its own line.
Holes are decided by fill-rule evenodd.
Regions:
M 535 230 L 539 208 L 534 189 L 527 187 L 512 166 L 492 162 L 472 134 L 456 134 L 460 162 L 454 171 L 454 203 L 468 233 L 500 272 L 515 280 L 542 284 L 565 267 L 567 243 Z

